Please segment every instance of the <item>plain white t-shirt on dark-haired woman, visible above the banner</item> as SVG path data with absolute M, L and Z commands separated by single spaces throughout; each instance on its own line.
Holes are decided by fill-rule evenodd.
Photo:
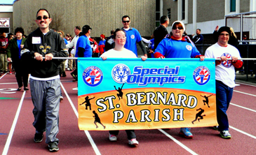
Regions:
M 134 52 L 124 48 L 122 51 L 117 51 L 114 49 L 104 52 L 100 57 L 112 57 L 112 58 L 137 58 Z

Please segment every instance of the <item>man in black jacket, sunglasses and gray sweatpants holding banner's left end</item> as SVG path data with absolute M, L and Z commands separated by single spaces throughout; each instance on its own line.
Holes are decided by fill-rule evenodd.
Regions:
M 34 122 L 36 128 L 34 142 L 43 141 L 46 131 L 46 143 L 50 152 L 58 151 L 59 109 L 60 109 L 60 62 L 68 57 L 64 40 L 57 32 L 49 29 L 52 21 L 46 9 L 36 13 L 38 29 L 27 37 L 24 48 L 25 57 L 32 57 L 30 62 L 30 90 L 34 105 Z M 23 53 L 23 52 L 22 52 Z M 45 59 L 43 59 L 43 57 Z

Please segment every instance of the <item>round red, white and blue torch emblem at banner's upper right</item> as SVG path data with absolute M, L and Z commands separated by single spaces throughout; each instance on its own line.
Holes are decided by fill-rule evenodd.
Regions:
M 193 73 L 194 81 L 204 85 L 210 80 L 210 70 L 206 66 L 198 66 Z

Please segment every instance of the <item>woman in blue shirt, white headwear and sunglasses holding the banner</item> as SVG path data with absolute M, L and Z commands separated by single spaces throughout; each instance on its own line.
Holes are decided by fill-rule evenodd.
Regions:
M 183 36 L 185 26 L 181 21 L 175 21 L 172 24 L 172 31 L 168 38 L 161 40 L 156 47 L 155 58 L 200 58 L 203 61 L 204 56 L 196 49 L 196 46 L 188 36 Z M 189 128 L 180 128 L 179 135 L 184 138 L 193 138 Z

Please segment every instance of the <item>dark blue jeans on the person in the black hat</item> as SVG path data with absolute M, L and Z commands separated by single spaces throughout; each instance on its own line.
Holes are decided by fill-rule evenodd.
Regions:
M 217 106 L 217 122 L 219 131 L 229 130 L 229 119 L 227 118 L 227 109 L 233 95 L 233 88 L 228 87 L 224 83 L 216 80 L 216 106 Z

